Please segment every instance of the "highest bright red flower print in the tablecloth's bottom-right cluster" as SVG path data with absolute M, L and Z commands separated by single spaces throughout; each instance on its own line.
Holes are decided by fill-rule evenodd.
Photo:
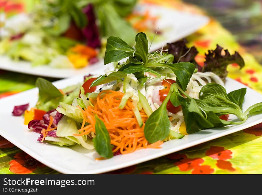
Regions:
M 230 154 L 232 154 L 230 150 L 225 150 L 224 147 L 220 146 L 211 146 L 210 149 L 206 151 L 207 156 L 219 160 L 227 160 L 232 158 Z

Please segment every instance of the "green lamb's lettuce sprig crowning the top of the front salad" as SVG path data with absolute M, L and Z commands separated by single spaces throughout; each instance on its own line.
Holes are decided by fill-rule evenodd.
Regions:
M 118 62 L 124 58 L 129 57 L 128 63 L 120 65 L 117 72 L 112 72 L 109 75 L 103 75 L 93 81 L 92 86 L 101 85 L 105 82 L 112 82 L 117 79 L 124 78 L 127 74 L 135 74 L 139 80 L 144 78 L 144 72 L 151 72 L 156 76 L 161 76 L 157 69 L 167 68 L 174 72 L 177 76 L 176 82 L 185 89 L 192 74 L 195 71 L 194 64 L 190 62 L 180 62 L 176 64 L 165 63 L 174 59 L 173 55 L 165 54 L 160 58 L 157 53 L 148 53 L 148 41 L 146 34 L 138 33 L 135 37 L 135 48 L 128 45 L 119 37 L 109 37 L 107 39 L 107 46 L 105 51 L 105 64 L 111 62 Z M 154 58 L 154 55 L 156 58 Z M 144 81 L 143 80 L 143 81 Z

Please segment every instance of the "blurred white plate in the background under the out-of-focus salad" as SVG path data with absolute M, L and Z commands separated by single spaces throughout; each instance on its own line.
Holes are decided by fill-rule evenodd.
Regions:
M 175 42 L 194 33 L 209 21 L 206 16 L 180 12 L 175 9 L 155 5 L 139 4 L 135 7 L 135 10 L 138 12 L 149 10 L 151 15 L 160 16 L 156 26 L 162 32 L 161 41 L 153 42 L 150 51 L 155 51 L 166 45 L 166 43 Z M 7 56 L 0 55 L 0 69 L 43 77 L 67 78 L 83 74 L 83 72 L 86 74 L 89 72 L 99 73 L 107 68 L 106 66 L 102 66 L 103 64 L 104 60 L 100 59 L 97 63 L 81 69 L 58 69 L 46 65 L 33 67 L 30 62 L 13 61 Z

